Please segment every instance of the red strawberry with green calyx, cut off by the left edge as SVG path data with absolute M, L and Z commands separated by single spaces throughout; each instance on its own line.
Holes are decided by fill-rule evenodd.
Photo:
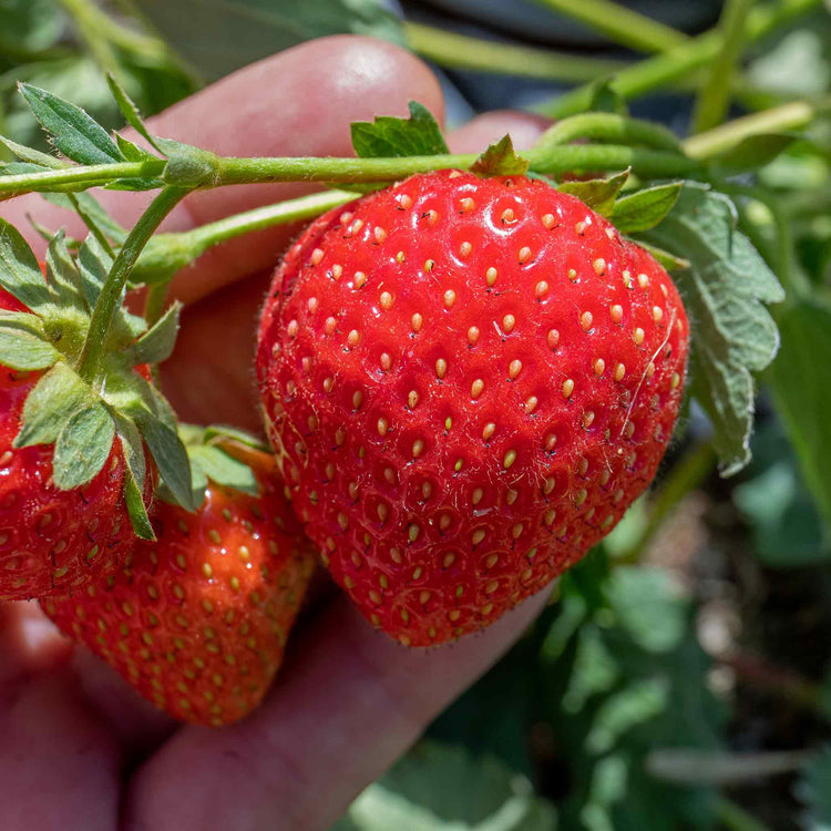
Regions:
M 112 259 L 93 240 L 76 261 L 58 235 L 39 264 L 6 223 L 0 245 L 2 602 L 65 594 L 113 571 L 136 533 L 152 535 L 150 455 L 188 504 L 191 491 L 179 485 L 187 459 L 174 417 L 145 362 L 170 351 L 172 338 L 158 335 L 175 319 L 146 332 L 117 310 L 85 377 L 79 366 Z

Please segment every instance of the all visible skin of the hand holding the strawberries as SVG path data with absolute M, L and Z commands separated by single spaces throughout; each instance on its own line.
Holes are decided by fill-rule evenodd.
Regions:
M 226 155 L 347 155 L 349 124 L 407 115 L 417 100 L 440 120 L 430 70 L 373 40 L 338 37 L 283 52 L 151 120 L 151 129 Z M 511 132 L 522 147 L 542 123 L 491 113 L 450 136 L 473 152 Z M 185 230 L 306 193 L 300 184 L 193 194 L 164 225 Z M 146 194 L 103 192 L 123 224 Z M 38 253 L 27 214 L 83 234 L 39 197 L 2 216 Z M 257 308 L 269 270 L 297 228 L 229 242 L 179 274 L 186 302 L 163 384 L 183 419 L 258 427 L 252 369 Z M 217 345 L 220 345 L 217 348 Z M 545 603 L 525 602 L 488 630 L 433 650 L 408 650 L 326 593 L 293 636 L 263 707 L 222 730 L 179 727 L 83 648 L 37 604 L 0 605 L 0 814 L 3 831 L 274 831 L 327 829 L 427 725 L 516 640 Z

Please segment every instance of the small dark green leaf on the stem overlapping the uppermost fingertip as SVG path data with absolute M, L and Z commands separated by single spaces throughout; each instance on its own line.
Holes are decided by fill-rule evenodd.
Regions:
M 434 156 L 448 153 L 441 129 L 430 111 L 410 102 L 410 117 L 379 115 L 373 122 L 351 125 L 352 146 L 361 158 L 391 156 Z

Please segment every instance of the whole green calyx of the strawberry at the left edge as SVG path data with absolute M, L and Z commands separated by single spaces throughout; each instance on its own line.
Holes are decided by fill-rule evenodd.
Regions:
M 54 485 L 70 491 L 101 472 L 117 438 L 133 530 L 152 540 L 144 500 L 146 451 L 176 502 L 188 511 L 196 507 L 175 413 L 150 382 L 147 366 L 171 355 L 179 307 L 148 327 L 121 304 L 104 338 L 99 370 L 84 380 L 79 365 L 112 264 L 94 235 L 73 256 L 59 232 L 41 267 L 20 233 L 0 220 L 0 288 L 27 309 L 0 312 L 0 363 L 16 375 L 33 373 L 13 448 L 53 444 Z

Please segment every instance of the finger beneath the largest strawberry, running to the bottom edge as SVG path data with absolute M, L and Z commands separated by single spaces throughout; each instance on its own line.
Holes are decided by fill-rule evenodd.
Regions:
M 488 630 L 431 652 L 375 632 L 346 598 L 297 644 L 264 707 L 185 729 L 140 770 L 127 829 L 322 831 L 519 637 L 542 593 Z

